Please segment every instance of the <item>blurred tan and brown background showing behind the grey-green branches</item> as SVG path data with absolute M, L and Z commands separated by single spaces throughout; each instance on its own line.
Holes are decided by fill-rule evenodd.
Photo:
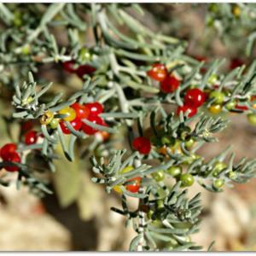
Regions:
M 206 27 L 206 4 L 154 3 L 143 4 L 143 8 L 143 17 L 133 15 L 155 32 L 188 40 L 189 55 L 207 59 L 225 57 L 227 65 L 236 58 L 250 61 L 242 53 L 242 41 L 224 44 L 214 29 Z M 59 36 L 65 41 L 61 33 Z M 90 37 L 89 33 L 88 44 Z M 63 88 L 63 84 L 74 90 L 81 85 L 77 77 L 62 76 L 57 68 L 43 68 L 39 76 L 55 82 L 55 90 Z M 0 112 L 6 111 L 1 103 Z M 236 158 L 255 157 L 255 126 L 247 123 L 246 116 L 234 113 L 229 118 L 229 128 L 218 134 L 220 143 L 211 143 L 201 148 L 200 153 L 206 158 L 212 157 L 232 144 Z M 0 122 L 2 145 L 9 142 L 9 137 L 3 119 Z M 119 207 L 119 195 L 107 195 L 101 185 L 90 182 L 87 161 L 69 163 L 62 159 L 56 161 L 56 165 L 54 195 L 38 199 L 24 188 L 16 190 L 15 184 L 9 188 L 0 187 L 0 251 L 127 250 L 135 234 L 131 228 L 125 229 L 124 218 L 110 211 L 110 207 Z M 224 189 L 223 193 L 212 194 L 195 184 L 189 193 L 195 195 L 201 191 L 204 210 L 201 231 L 192 240 L 204 249 L 214 240 L 213 250 L 216 251 L 256 249 L 255 185 L 256 180 L 252 180 Z M 137 201 L 131 201 L 133 203 Z

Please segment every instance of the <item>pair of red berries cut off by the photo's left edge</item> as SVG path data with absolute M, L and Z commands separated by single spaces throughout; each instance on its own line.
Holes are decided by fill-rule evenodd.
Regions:
M 20 155 L 16 152 L 17 146 L 15 143 L 7 143 L 0 150 L 0 157 L 4 161 L 20 163 Z M 8 172 L 19 171 L 18 166 L 4 166 L 5 170 Z

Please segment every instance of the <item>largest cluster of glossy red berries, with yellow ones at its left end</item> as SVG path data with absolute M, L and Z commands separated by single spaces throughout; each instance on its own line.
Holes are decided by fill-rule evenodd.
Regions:
M 66 122 L 72 125 L 75 131 L 84 131 L 88 135 L 95 134 L 98 130 L 92 128 L 90 125 L 86 125 L 83 119 L 87 119 L 96 125 L 107 125 L 104 120 L 99 116 L 103 112 L 103 106 L 99 102 L 90 102 L 85 104 L 73 103 L 70 107 L 62 108 L 58 111 L 58 114 L 63 115 L 62 119 L 55 118 L 55 114 L 49 111 L 45 112 L 41 117 L 42 125 L 49 125 L 49 128 L 56 129 L 60 124 L 61 131 L 64 134 L 70 134 L 71 131 L 67 127 Z M 105 134 L 106 136 L 106 134 Z

